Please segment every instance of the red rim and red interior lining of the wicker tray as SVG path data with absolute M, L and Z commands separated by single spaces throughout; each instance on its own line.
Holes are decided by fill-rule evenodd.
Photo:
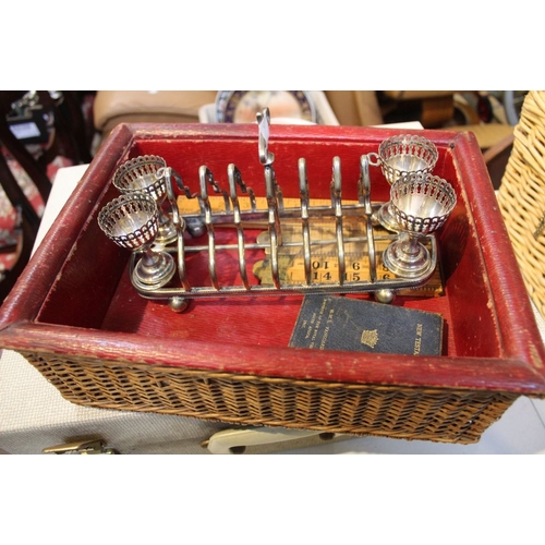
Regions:
M 400 132 L 272 125 L 269 148 L 276 157 L 278 183 L 284 196 L 299 197 L 298 159 L 304 157 L 311 196 L 327 198 L 331 160 L 339 156 L 343 198 L 355 198 L 361 155 L 376 153 L 383 140 Z M 519 395 L 545 396 L 545 351 L 476 140 L 470 133 L 417 133 L 438 147 L 434 174 L 453 185 L 458 203 L 437 234 L 445 294 L 398 298 L 393 304 L 444 316 L 441 356 L 288 348 L 301 305 L 299 295 L 195 299 L 184 313 L 174 314 L 167 304 L 134 291 L 128 274 L 130 252 L 109 241 L 97 223 L 98 211 L 119 194 L 111 184 L 113 172 L 131 157 L 159 155 L 197 191 L 201 165 L 227 186 L 227 167 L 234 162 L 244 181 L 263 195 L 257 129 L 228 124 L 117 128 L 0 310 L 0 346 L 23 353 L 74 402 L 241 423 L 256 423 L 259 417 L 241 417 L 239 408 L 201 411 L 191 402 L 181 403 L 180 410 L 147 402 L 140 407 L 138 400 L 117 402 L 108 392 L 102 392 L 101 402 L 87 395 L 85 385 L 68 391 L 61 373 L 51 371 L 51 362 L 84 362 L 95 370 L 102 362 L 119 362 L 122 367 L 221 373 L 234 380 L 241 376 L 340 388 L 499 392 L 509 400 L 499 414 Z M 371 168 L 371 186 L 373 201 L 388 199 L 389 185 L 379 168 Z M 319 427 L 299 417 L 263 419 L 262 423 Z M 367 425 L 323 428 L 411 436 Z M 437 439 L 465 440 L 440 434 Z

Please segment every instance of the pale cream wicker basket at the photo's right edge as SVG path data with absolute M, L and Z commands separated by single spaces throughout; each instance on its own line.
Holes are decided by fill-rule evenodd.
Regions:
M 513 149 L 498 191 L 530 296 L 545 316 L 545 92 L 530 92 L 514 128 Z

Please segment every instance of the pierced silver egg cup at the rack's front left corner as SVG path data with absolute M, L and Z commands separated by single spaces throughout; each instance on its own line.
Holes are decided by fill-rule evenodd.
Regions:
M 142 252 L 131 278 L 136 288 L 155 290 L 172 279 L 175 272 L 173 257 L 168 252 L 152 249 L 159 227 L 159 211 L 152 196 L 129 193 L 114 198 L 98 214 L 98 225 L 119 246 Z

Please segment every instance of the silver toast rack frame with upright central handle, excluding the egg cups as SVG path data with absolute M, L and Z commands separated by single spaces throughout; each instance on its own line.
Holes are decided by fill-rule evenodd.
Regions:
M 263 165 L 265 199 L 262 199 L 262 203 L 256 199 L 252 187 L 244 183 L 241 170 L 232 162 L 228 165 L 226 172 L 229 191 L 220 186 L 218 177 L 206 165 L 198 168 L 197 192 L 186 186 L 182 177 L 172 168 L 166 167 L 159 171 L 166 178 L 169 214 L 179 233 L 173 245 L 161 250 L 177 256 L 178 278 L 169 286 L 143 286 L 135 275 L 140 255 L 134 252 L 130 277 L 142 296 L 167 300 L 177 312 L 186 308 L 186 299 L 206 296 L 371 292 L 377 300 L 390 302 L 396 291 L 417 288 L 429 280 L 437 265 L 437 244 L 433 234 L 425 238 L 431 251 L 428 263 L 422 271 L 409 278 L 396 277 L 392 274 L 379 277 L 377 272 L 380 263 L 375 239 L 393 242 L 399 233 L 382 228 L 377 213 L 384 203 L 371 201 L 370 165 L 378 166 L 374 157 L 376 154 L 360 157 L 360 174 L 358 179 L 352 180 L 356 189 L 356 201 L 350 203 L 342 199 L 341 159 L 334 157 L 330 169 L 330 202 L 319 205 L 313 204 L 311 199 L 306 160 L 299 158 L 299 205 L 288 207 L 284 206 L 283 193 L 275 173 L 275 157 L 269 152 L 267 118 L 262 116 L 259 121 L 255 153 Z M 157 162 L 158 158 L 138 157 L 141 168 L 144 169 L 146 161 Z M 196 179 L 197 173 L 193 178 Z M 180 195 L 178 198 L 197 202 L 198 213 L 181 214 L 174 187 Z M 210 197 L 214 198 L 214 195 L 221 195 L 217 197 L 219 206 L 213 207 Z M 243 199 L 246 201 L 245 206 L 241 205 Z M 250 226 L 250 229 L 246 226 Z M 295 231 L 290 233 L 290 240 L 286 240 L 282 234 L 286 226 L 290 231 Z M 230 231 L 231 238 L 226 243 L 217 242 L 218 229 L 223 231 L 222 234 L 226 234 L 227 230 Z M 326 231 L 327 235 L 324 237 L 320 231 Z M 315 237 L 315 232 L 322 235 Z M 202 237 L 205 240 L 202 240 Z M 199 242 L 194 243 L 195 239 Z M 222 275 L 218 267 L 221 253 L 231 256 L 227 275 Z M 302 257 L 302 281 L 282 280 L 284 275 L 281 275 L 279 259 L 281 253 Z M 323 281 L 315 275 L 316 263 L 325 253 L 332 262 L 331 281 Z M 265 256 L 268 256 L 271 281 L 252 281 L 252 269 L 256 259 Z M 187 269 L 195 267 L 198 257 L 203 258 L 204 263 L 198 275 L 193 276 L 199 282 L 194 284 L 190 280 L 191 272 Z M 238 269 L 235 277 L 232 275 L 233 261 L 237 262 Z M 362 261 L 366 263 L 362 264 Z M 354 266 L 360 274 L 347 270 Z M 226 278 L 225 282 L 221 282 L 222 276 Z

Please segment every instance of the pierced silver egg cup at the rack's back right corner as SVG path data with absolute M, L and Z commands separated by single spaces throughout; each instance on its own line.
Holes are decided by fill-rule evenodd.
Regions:
M 435 144 L 415 134 L 391 136 L 378 146 L 380 169 L 390 185 L 408 174 L 431 173 L 438 158 L 439 153 Z M 384 228 L 390 231 L 399 230 L 391 201 L 378 209 L 377 219 Z

